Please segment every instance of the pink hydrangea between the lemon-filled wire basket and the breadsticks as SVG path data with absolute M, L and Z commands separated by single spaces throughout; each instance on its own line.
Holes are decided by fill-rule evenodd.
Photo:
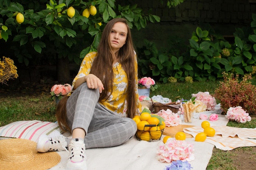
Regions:
M 181 123 L 180 115 L 178 113 L 173 113 L 170 109 L 160 110 L 156 115 L 164 118 L 165 126 L 178 126 Z

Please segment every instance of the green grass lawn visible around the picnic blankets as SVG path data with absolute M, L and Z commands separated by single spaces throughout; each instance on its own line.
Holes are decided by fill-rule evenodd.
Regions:
M 256 81 L 253 81 L 255 84 Z M 162 95 L 168 97 L 172 101 L 177 99 L 191 99 L 191 94 L 198 93 L 199 91 L 209 91 L 212 95 L 216 88 L 219 86 L 219 82 L 193 82 L 193 83 L 168 83 L 158 84 L 158 89 L 150 91 L 150 97 L 153 95 Z M 42 87 L 39 88 L 39 92 Z M 47 92 L 50 87 L 44 88 L 45 92 L 40 92 L 37 95 L 16 95 L 17 92 L 11 95 L 5 95 L 0 93 L 0 123 L 1 126 L 7 125 L 14 121 L 20 120 L 41 120 L 41 121 L 56 121 L 55 110 L 56 104 L 51 99 L 51 95 Z M 28 90 L 33 90 L 29 89 Z M 4 90 L 7 91 L 7 90 Z M 9 92 L 13 91 L 10 87 Z M 37 90 L 38 91 L 38 90 Z M 32 93 L 33 94 L 33 93 Z M 218 103 L 218 100 L 217 100 Z M 227 126 L 238 127 L 238 128 L 255 128 L 256 119 L 252 119 L 250 122 L 244 124 L 229 121 Z M 236 170 L 234 166 L 234 157 L 239 157 L 238 152 L 250 152 L 252 147 L 244 147 L 236 149 L 236 152 L 223 151 L 213 148 L 213 154 L 207 166 L 207 170 Z M 195 151 L 196 152 L 196 151 Z M 254 157 L 256 155 L 254 150 Z

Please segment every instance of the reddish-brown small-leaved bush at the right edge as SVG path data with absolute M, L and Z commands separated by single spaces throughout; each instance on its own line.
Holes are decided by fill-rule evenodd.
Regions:
M 224 114 L 230 107 L 241 106 L 249 114 L 256 113 L 256 86 L 246 78 L 239 81 L 239 75 L 223 73 L 223 81 L 216 88 L 214 97 L 220 101 Z

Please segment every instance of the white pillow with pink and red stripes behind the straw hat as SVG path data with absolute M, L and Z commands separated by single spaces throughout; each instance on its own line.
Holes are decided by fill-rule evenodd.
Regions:
M 0 137 L 12 137 L 38 141 L 42 134 L 49 135 L 54 130 L 61 131 L 58 124 L 49 121 L 15 121 L 0 127 Z

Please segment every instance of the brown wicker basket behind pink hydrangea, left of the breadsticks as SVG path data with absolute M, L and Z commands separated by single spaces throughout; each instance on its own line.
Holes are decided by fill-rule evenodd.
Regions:
M 158 113 L 162 109 L 164 110 L 170 109 L 173 113 L 177 113 L 180 108 L 180 103 L 176 103 L 176 102 L 163 104 L 163 103 L 152 101 L 152 105 L 154 107 L 155 113 Z

